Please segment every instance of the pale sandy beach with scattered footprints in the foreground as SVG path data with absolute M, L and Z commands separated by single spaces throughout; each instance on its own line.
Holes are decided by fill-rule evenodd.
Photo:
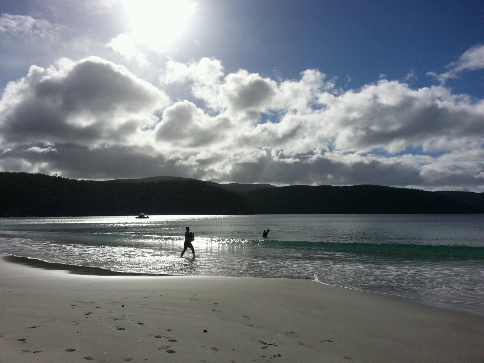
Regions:
M 484 359 L 482 316 L 314 281 L 80 275 L 2 257 L 0 308 L 5 363 Z

